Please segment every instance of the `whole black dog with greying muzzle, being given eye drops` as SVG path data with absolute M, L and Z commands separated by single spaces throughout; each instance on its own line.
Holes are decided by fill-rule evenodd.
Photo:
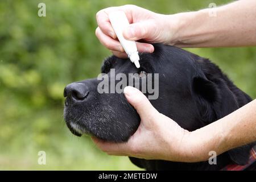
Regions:
M 140 82 L 141 75 L 159 73 L 159 97 L 150 100 L 151 104 L 189 131 L 225 117 L 251 101 L 208 59 L 172 46 L 154 44 L 154 47 L 154 53 L 140 55 L 139 69 L 128 59 L 112 56 L 104 61 L 101 71 L 108 76 L 112 68 L 115 75 L 125 73 L 129 77 L 129 73 L 139 73 Z M 122 93 L 98 93 L 99 83 L 100 80 L 93 78 L 66 86 L 64 118 L 67 126 L 78 136 L 87 133 L 104 140 L 125 142 L 137 130 L 139 115 Z M 130 159 L 135 165 L 150 170 L 218 170 L 230 163 L 246 164 L 254 144 L 219 155 L 217 165 Z

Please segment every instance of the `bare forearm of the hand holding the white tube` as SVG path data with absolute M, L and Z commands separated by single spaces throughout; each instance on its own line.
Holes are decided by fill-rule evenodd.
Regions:
M 212 10 L 168 15 L 169 28 L 172 30 L 177 26 L 170 44 L 179 47 L 256 45 L 256 1 L 236 1 L 217 7 L 216 16 L 209 15 Z

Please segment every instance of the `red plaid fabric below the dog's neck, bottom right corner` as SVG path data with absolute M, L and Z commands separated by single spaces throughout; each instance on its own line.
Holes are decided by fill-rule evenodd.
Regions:
M 254 146 L 253 148 L 251 148 L 250 151 L 250 158 L 247 162 L 247 164 L 240 166 L 237 164 L 229 164 L 228 166 L 224 167 L 221 169 L 221 171 L 243 171 L 245 170 L 247 167 L 249 167 L 251 164 L 253 164 L 254 162 L 256 162 L 256 146 Z

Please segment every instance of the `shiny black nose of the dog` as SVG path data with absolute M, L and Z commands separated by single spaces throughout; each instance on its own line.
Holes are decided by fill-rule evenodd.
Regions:
M 70 100 L 84 100 L 89 94 L 87 86 L 81 82 L 68 84 L 64 89 L 64 97 L 67 97 L 65 105 L 68 105 Z

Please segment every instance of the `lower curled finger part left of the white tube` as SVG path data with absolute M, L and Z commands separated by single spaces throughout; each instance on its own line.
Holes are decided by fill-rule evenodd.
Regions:
M 96 28 L 95 34 L 97 38 L 100 40 L 101 44 L 106 48 L 119 52 L 125 51 L 117 40 L 114 40 L 110 38 L 108 35 L 105 35 L 99 27 Z

